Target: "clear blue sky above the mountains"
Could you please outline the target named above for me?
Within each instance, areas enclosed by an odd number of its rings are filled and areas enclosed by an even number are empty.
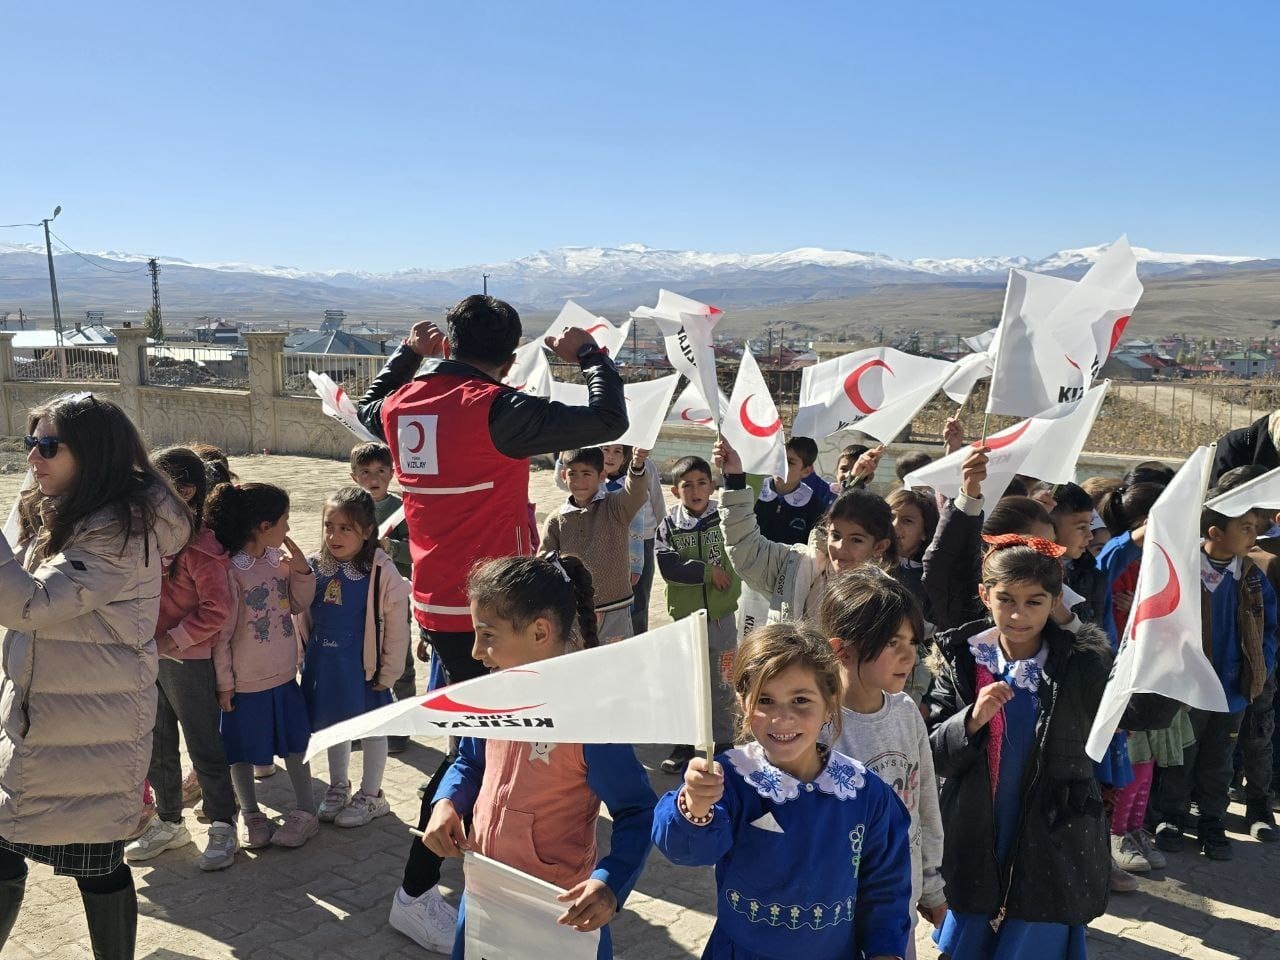
[[[81,250],[314,269],[1280,256],[1276,9],[8,4],[0,223],[61,204]]]

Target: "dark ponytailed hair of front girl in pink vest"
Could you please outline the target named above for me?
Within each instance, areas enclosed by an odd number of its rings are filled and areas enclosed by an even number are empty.
[[[516,630],[547,617],[563,643],[571,641],[575,623],[584,648],[600,643],[591,573],[577,557],[500,557],[477,563],[467,577],[467,596],[492,607]]]

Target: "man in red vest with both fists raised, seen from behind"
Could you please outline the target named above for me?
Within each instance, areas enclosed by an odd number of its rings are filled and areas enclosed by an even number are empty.
[[[529,458],[608,443],[627,429],[622,378],[581,329],[547,346],[577,362],[588,406],[529,397],[500,383],[520,343],[520,315],[500,300],[467,297],[449,311],[447,334],[415,324],[360,401],[360,420],[387,440],[404,497],[413,561],[413,614],[424,645],[451,684],[484,673],[472,659],[475,634],[466,579],[477,561],[532,553]],[[420,369],[421,367],[421,369]],[[425,646],[419,657],[426,659]],[[425,790],[419,829],[448,763]],[[440,860],[413,844],[392,925],[429,950],[449,952],[456,911],[435,884]]]

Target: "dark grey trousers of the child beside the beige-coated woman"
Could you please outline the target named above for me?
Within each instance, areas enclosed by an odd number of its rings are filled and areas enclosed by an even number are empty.
[[[212,660],[160,660],[156,678],[156,723],[151,739],[147,780],[156,792],[161,820],[182,819],[182,763],[178,756],[178,724],[187,740],[205,815],[211,820],[236,822],[236,792],[219,730],[218,681]]]

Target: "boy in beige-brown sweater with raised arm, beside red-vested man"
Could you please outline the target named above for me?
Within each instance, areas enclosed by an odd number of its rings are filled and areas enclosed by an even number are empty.
[[[541,553],[580,557],[595,588],[600,643],[631,636],[631,518],[649,495],[644,465],[649,452],[636,449],[621,490],[604,489],[604,453],[599,447],[567,451],[561,457],[568,500],[547,518]]]

